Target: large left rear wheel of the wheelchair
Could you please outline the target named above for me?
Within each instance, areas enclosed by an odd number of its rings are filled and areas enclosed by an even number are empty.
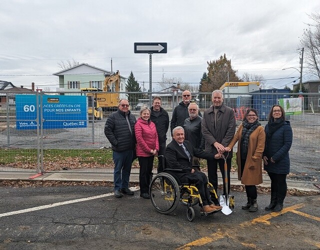
[[[150,184],[152,205],[160,213],[168,214],[176,208],[179,201],[179,185],[171,174],[156,174]]]

